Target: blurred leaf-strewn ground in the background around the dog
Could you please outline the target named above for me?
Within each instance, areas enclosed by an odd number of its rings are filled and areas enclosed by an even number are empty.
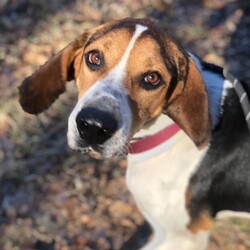
[[[185,48],[250,79],[248,0],[0,0],[1,250],[135,250],[150,238],[125,185],[126,159],[93,160],[67,146],[74,83],[38,116],[17,98],[53,53],[123,17],[153,19]],[[217,221],[209,250],[218,249],[250,249],[250,221]]]

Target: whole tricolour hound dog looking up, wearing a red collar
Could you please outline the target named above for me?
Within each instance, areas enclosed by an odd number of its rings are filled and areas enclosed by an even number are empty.
[[[128,153],[127,185],[154,231],[142,249],[206,249],[219,212],[250,212],[249,117],[221,67],[149,20],[116,20],[26,78],[20,104],[38,114],[73,79],[68,144],[103,158]]]

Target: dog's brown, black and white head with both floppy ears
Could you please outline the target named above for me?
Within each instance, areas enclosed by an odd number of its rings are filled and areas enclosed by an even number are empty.
[[[73,149],[123,152],[135,132],[164,113],[198,147],[210,137],[208,97],[192,58],[150,21],[113,21],[77,37],[20,86],[25,111],[45,110],[75,79],[68,123]]]

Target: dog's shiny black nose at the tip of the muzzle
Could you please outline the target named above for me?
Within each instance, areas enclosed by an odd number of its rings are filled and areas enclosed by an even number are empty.
[[[82,109],[76,117],[76,124],[81,138],[88,146],[104,143],[118,128],[118,122],[110,112],[94,107]]]

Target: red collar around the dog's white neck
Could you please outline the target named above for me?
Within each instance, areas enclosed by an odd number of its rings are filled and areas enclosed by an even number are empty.
[[[154,135],[132,141],[129,144],[129,154],[139,154],[148,151],[173,137],[180,127],[173,123]]]

